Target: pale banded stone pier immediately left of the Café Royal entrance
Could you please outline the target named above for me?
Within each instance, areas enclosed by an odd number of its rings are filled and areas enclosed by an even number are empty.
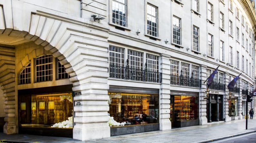
[[[200,76],[202,77],[202,86],[200,89],[200,93],[199,93],[199,102],[200,102],[200,106],[199,106],[199,124],[200,125],[205,125],[207,124],[207,118],[206,118],[206,99],[204,99],[206,97],[206,82],[204,83],[204,81],[207,79],[206,77],[206,65],[200,65]]]

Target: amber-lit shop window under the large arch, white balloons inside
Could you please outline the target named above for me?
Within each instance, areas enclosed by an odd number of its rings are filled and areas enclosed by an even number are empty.
[[[19,96],[19,125],[35,128],[73,128],[72,93]]]

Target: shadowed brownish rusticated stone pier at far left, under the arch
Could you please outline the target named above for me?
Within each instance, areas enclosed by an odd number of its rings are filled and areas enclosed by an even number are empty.
[[[4,133],[17,133],[15,101],[15,49],[0,47],[0,85],[5,97]]]

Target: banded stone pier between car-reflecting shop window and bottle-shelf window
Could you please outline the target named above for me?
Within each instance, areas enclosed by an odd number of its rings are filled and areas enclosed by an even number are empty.
[[[172,128],[170,121],[170,56],[161,54],[160,71],[162,72],[162,84],[160,89],[160,130]]]

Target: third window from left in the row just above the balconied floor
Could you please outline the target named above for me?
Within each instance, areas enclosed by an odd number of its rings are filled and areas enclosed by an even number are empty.
[[[181,45],[181,23],[180,19],[173,17],[173,43]]]

